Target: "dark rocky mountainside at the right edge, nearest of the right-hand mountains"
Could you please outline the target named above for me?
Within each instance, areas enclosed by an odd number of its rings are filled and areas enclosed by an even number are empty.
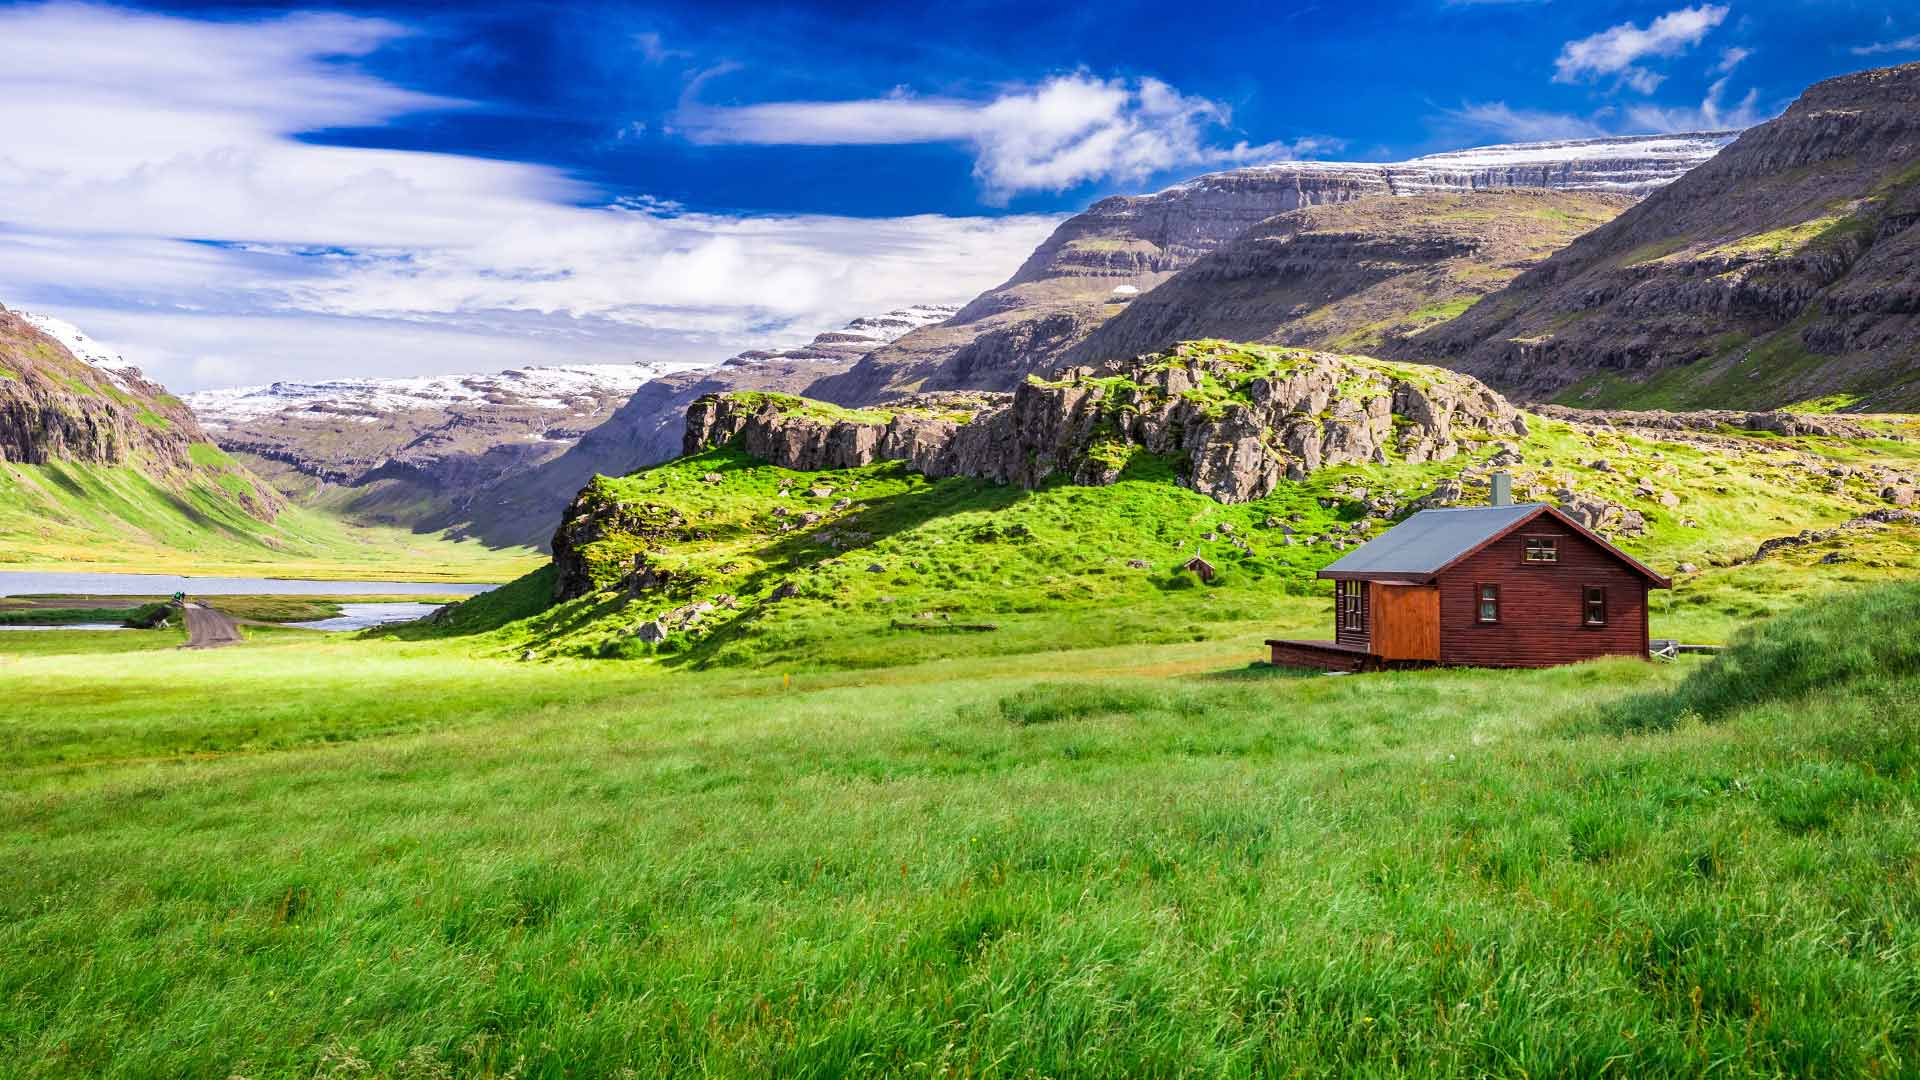
[[[1920,65],[1830,79],[1427,334],[1569,404],[1920,404]]]

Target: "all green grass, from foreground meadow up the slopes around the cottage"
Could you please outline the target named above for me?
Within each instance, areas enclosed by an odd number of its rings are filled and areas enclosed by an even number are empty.
[[[1920,1074],[1920,528],[1749,561],[1889,505],[1920,429],[1872,423],[1542,421],[1240,505],[1150,455],[1027,492],[722,448],[597,480],[564,603],[549,565],[355,636],[0,634],[0,1076]],[[1653,634],[1732,650],[1260,663],[1327,634],[1369,500],[1501,450],[1644,513],[1695,565]],[[113,492],[188,561],[534,565]],[[109,557],[0,505],[4,552]]]

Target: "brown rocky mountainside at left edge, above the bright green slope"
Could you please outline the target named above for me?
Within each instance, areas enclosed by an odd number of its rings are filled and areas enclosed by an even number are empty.
[[[102,371],[0,307],[0,461],[131,467],[163,486],[192,479],[217,486],[194,461],[194,444],[211,450],[194,413],[165,388],[131,369]],[[250,490],[236,502],[261,521],[284,505],[263,484],[234,484],[242,486]]]

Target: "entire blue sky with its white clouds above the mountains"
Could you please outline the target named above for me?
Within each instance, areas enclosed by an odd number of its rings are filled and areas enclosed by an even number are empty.
[[[1210,169],[1743,127],[1920,60],[1920,12],[0,4],[0,302],[200,388],[716,361]]]

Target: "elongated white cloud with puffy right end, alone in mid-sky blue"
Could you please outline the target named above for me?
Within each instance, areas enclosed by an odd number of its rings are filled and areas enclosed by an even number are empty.
[[[689,94],[680,131],[705,144],[889,146],[958,142],[973,148],[987,198],[1060,192],[1091,181],[1144,181],[1167,169],[1290,160],[1331,140],[1213,146],[1231,121],[1219,102],[1181,94],[1160,79],[1058,75],[993,100],[920,98],[895,90],[852,102],[705,106]]]

